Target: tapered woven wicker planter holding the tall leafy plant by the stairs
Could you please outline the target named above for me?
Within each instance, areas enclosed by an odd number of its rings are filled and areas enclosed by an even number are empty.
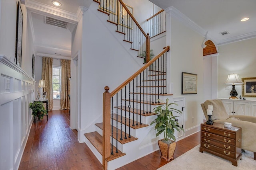
[[[163,142],[164,139],[161,139],[158,141],[158,146],[161,151],[161,156],[160,158],[164,158],[166,161],[170,161],[171,159],[174,159],[173,154],[176,149],[176,142],[172,141],[172,143],[167,144]]]

